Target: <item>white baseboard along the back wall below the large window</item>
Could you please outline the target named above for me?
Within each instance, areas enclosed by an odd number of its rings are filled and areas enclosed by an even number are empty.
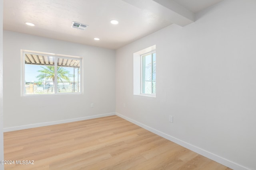
[[[100,115],[78,117],[78,118],[74,118],[74,119],[66,119],[66,120],[50,121],[50,122],[44,122],[44,123],[35,123],[35,124],[30,124],[30,125],[7,127],[7,128],[4,128],[4,132],[18,131],[18,130],[22,130],[22,129],[30,129],[30,128],[34,128],[34,127],[42,127],[42,126],[49,126],[49,125],[57,125],[57,124],[61,124],[61,123],[69,123],[69,122],[74,122],[74,121],[94,119],[94,118],[98,118],[98,117],[106,117],[106,116],[111,116],[111,115],[116,115],[116,113],[105,113],[105,114],[100,114]]]

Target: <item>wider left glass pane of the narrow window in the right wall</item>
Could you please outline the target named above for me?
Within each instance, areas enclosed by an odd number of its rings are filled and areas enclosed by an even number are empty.
[[[152,57],[151,54],[142,56],[142,93],[152,92]]]

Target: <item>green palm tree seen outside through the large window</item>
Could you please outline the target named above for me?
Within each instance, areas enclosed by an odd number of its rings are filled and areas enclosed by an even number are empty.
[[[40,72],[41,74],[36,76],[36,78],[38,78],[38,80],[52,80],[54,84],[54,66],[46,66],[42,68],[42,70],[38,70],[38,72]],[[67,80],[68,82],[70,81],[69,77],[66,76],[68,73],[69,71],[65,70],[63,67],[57,67],[57,78],[61,82],[63,82],[63,80]]]

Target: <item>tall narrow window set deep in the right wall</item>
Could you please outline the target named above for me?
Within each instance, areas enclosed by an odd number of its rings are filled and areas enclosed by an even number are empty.
[[[142,94],[156,94],[156,53],[150,52],[141,56]]]

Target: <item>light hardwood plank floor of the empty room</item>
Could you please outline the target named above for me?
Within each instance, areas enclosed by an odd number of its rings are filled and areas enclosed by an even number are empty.
[[[5,170],[230,170],[118,116],[6,132],[4,158]]]

